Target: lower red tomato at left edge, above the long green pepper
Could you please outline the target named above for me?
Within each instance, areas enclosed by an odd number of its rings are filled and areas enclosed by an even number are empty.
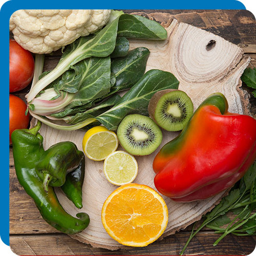
[[[27,105],[17,96],[9,95],[9,123],[10,123],[10,144],[12,143],[11,134],[16,129],[25,129],[29,124],[29,114],[25,115]]]

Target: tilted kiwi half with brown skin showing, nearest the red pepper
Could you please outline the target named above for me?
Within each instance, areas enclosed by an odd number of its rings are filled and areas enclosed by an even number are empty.
[[[150,117],[164,130],[172,132],[182,130],[193,112],[193,102],[180,90],[158,91],[148,105]]]

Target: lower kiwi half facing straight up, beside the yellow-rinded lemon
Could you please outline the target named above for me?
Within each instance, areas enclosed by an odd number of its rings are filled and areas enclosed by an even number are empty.
[[[119,124],[117,137],[121,146],[131,155],[145,156],[161,144],[161,129],[148,116],[132,114]]]

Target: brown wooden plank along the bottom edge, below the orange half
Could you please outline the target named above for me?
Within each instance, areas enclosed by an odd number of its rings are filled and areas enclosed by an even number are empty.
[[[18,255],[179,255],[189,237],[179,232],[147,247],[126,247],[118,251],[94,248],[65,234],[10,236],[10,247]],[[219,236],[201,232],[190,242],[186,255],[249,255],[255,248],[255,237],[225,237],[218,246],[212,244]],[[230,246],[231,245],[231,246]]]

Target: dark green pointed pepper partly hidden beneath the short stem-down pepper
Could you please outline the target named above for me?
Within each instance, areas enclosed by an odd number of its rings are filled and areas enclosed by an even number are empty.
[[[83,207],[82,204],[82,187],[85,174],[85,159],[80,162],[77,169],[66,176],[66,182],[61,187],[69,200],[71,200],[78,209]]]

